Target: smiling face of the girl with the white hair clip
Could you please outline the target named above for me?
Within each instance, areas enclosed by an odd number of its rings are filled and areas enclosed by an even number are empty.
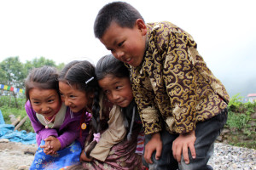
[[[69,106],[73,112],[83,110],[90,103],[85,92],[68,85],[66,82],[59,82],[59,89],[62,102],[65,102],[65,105]]]

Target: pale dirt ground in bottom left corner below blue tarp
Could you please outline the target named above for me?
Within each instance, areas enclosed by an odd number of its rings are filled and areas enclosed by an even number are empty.
[[[0,170],[26,170],[29,169],[36,144],[21,144],[16,142],[0,143]]]

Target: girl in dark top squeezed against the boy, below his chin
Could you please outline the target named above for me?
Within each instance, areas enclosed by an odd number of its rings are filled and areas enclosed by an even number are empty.
[[[96,65],[96,77],[104,94],[110,102],[119,105],[127,121],[127,139],[133,134],[137,137],[136,153],[143,155],[143,126],[133,99],[129,71],[125,65],[112,54],[100,59]]]

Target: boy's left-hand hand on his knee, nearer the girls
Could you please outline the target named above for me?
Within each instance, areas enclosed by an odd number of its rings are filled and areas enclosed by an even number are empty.
[[[152,138],[148,141],[148,144],[145,145],[144,158],[147,163],[153,163],[151,156],[154,150],[156,150],[155,159],[159,160],[162,152],[162,140],[160,133],[152,134]]]

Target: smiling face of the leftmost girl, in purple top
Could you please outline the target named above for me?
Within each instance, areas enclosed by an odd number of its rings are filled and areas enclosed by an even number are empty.
[[[61,100],[55,89],[32,88],[29,90],[32,108],[44,117],[51,117],[61,107]]]

